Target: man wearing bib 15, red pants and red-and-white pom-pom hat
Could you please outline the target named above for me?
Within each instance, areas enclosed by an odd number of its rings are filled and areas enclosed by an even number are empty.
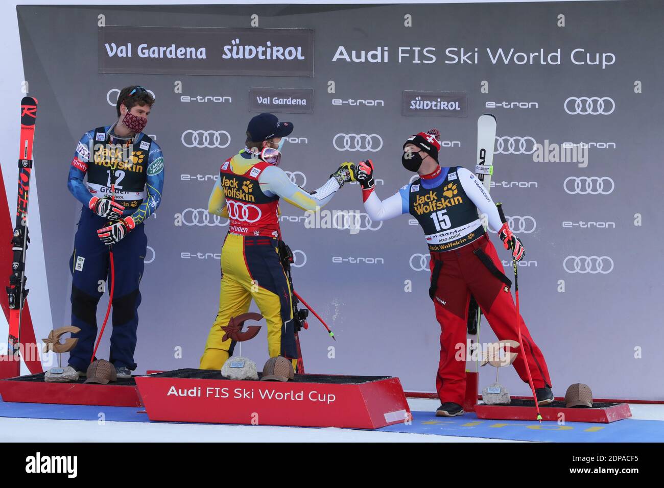
[[[500,341],[518,342],[517,311],[510,293],[511,282],[503,274],[502,264],[489,240],[480,214],[488,218],[489,228],[499,233],[513,257],[525,255],[523,244],[502,224],[498,210],[481,182],[460,166],[442,167],[438,163],[440,132],[431,129],[409,137],[403,145],[402,164],[420,175],[384,201],[374,191],[374,167],[371,159],[357,165],[357,180],[371,220],[387,220],[411,214],[424,230],[431,254],[429,295],[434,301],[440,323],[440,363],[436,390],[441,406],[436,416],[463,414],[465,393],[465,357],[456,359],[457,349],[465,351],[467,314],[471,295],[475,297],[491,329]],[[521,335],[540,405],[553,401],[551,380],[544,356],[533,341],[523,318]],[[517,349],[518,351],[518,349]],[[513,363],[519,376],[528,382],[524,355]]]

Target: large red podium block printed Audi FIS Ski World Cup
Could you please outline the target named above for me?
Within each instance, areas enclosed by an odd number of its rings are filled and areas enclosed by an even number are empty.
[[[392,376],[238,381],[188,368],[135,380],[150,420],[377,429],[410,418],[404,390]]]

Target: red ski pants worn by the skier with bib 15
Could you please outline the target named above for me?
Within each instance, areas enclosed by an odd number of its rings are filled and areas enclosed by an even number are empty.
[[[467,315],[471,294],[499,341],[511,339],[519,342],[517,310],[510,288],[505,284],[509,280],[503,274],[503,264],[487,236],[457,250],[433,252],[430,267],[436,319],[442,331],[436,390],[441,403],[461,405],[465,393]],[[523,348],[526,353],[535,388],[550,387],[551,380],[542,351],[533,341],[521,316],[519,320],[523,344],[515,352]],[[457,354],[459,347],[463,355]],[[528,382],[523,353],[517,355],[513,365],[521,379]]]

